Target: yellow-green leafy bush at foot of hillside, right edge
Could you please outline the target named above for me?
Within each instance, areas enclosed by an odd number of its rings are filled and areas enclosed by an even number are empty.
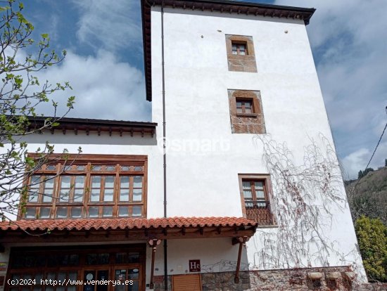
[[[361,216],[355,221],[360,253],[369,280],[387,282],[387,228],[380,219]]]

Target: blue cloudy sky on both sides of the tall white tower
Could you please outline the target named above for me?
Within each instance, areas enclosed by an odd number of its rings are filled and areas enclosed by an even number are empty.
[[[387,122],[387,1],[250,1],[317,8],[307,33],[338,158],[345,177],[357,177]],[[151,121],[139,0],[25,0],[24,13],[35,38],[49,33],[53,48],[68,51],[39,75],[70,82],[77,99],[68,117]],[[370,167],[386,158],[387,134]]]

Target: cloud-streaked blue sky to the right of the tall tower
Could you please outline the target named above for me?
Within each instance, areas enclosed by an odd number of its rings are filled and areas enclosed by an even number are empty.
[[[387,122],[387,1],[278,0],[276,4],[317,8],[307,31],[336,150],[353,178],[367,165]],[[384,143],[372,167],[381,166],[386,157]]]

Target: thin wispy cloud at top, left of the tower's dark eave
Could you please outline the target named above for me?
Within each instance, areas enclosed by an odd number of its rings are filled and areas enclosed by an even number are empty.
[[[120,48],[130,51],[137,47],[131,44],[141,41],[139,1],[74,0],[72,4],[81,13],[77,22],[77,37],[81,43],[108,51]],[[141,50],[142,46],[136,49]]]

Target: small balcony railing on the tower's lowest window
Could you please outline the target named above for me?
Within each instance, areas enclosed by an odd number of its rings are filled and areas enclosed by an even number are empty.
[[[275,224],[269,201],[246,201],[246,218],[258,222],[258,226]]]

